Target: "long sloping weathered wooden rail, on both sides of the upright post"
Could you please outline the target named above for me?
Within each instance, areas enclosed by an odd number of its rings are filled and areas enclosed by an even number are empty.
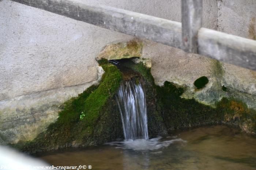
[[[89,24],[182,48],[181,23],[79,0],[13,0]],[[256,70],[256,41],[200,28],[198,54]]]

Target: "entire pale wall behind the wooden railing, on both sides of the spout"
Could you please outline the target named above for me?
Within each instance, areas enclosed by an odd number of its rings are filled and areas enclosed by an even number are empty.
[[[85,1],[181,21],[180,0]],[[204,27],[255,37],[254,0],[203,3]],[[1,0],[0,8],[0,143],[30,140],[44,131],[65,100],[98,82],[100,51],[134,38],[10,0]],[[256,107],[254,71],[148,40],[143,40],[141,56],[152,60],[156,84],[167,80],[187,86],[183,97],[214,106],[222,96],[235,95]],[[209,83],[196,91],[193,82],[200,76]],[[222,85],[229,91],[221,91]]]

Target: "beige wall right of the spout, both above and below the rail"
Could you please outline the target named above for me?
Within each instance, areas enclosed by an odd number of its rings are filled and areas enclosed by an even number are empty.
[[[210,7],[204,7],[204,12],[209,12],[211,15],[214,13],[214,16],[217,12],[218,20],[214,22],[213,18],[208,17],[212,25],[204,23],[204,27],[255,39],[255,1],[221,0],[215,3],[211,1]],[[217,11],[215,7],[218,8]],[[195,98],[207,105],[215,106],[215,102],[226,96],[240,99],[249,107],[256,109],[255,71],[217,62],[204,56],[187,54],[182,50],[151,41],[146,41],[144,44],[142,57],[151,56],[151,72],[156,84],[161,86],[167,80],[187,86],[187,91],[183,94],[184,98]],[[196,90],[193,83],[201,76],[207,76],[209,83],[206,88]],[[226,92],[222,90],[222,86],[227,87]]]

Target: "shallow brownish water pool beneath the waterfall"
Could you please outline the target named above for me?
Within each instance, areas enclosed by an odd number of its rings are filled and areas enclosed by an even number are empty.
[[[37,156],[54,166],[92,169],[253,170],[256,137],[226,126],[200,127],[146,141],[110,142]]]

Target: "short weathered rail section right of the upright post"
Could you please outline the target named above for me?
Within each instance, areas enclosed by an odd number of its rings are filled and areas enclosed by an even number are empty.
[[[198,32],[198,54],[256,70],[255,40],[200,28]]]

